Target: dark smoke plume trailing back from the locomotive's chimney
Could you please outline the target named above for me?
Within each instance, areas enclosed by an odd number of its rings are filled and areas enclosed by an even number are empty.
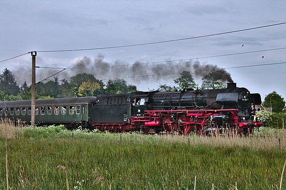
[[[44,62],[42,62],[44,65]],[[45,65],[44,65],[45,66]],[[49,65],[50,66],[50,65]],[[56,66],[55,66],[56,67]],[[62,67],[62,66],[61,66]],[[124,61],[117,60],[114,63],[108,62],[104,59],[103,55],[98,55],[96,58],[83,57],[76,61],[67,70],[60,72],[55,75],[59,80],[66,79],[69,80],[73,75],[78,73],[91,73],[99,80],[104,82],[109,79],[125,79],[129,81],[130,84],[142,84],[148,82],[158,82],[167,83],[168,81],[173,81],[180,77],[180,73],[183,71],[190,71],[195,79],[202,79],[210,72],[219,72],[218,80],[223,82],[233,82],[230,73],[225,69],[219,68],[217,65],[211,64],[201,64],[199,61],[164,61],[164,62],[150,62],[143,63],[140,61],[135,61],[134,63],[128,63]],[[12,70],[13,73],[23,72],[22,68]],[[29,71],[28,71],[29,72]],[[38,70],[36,73],[43,73],[37,75],[37,81],[41,81],[49,75],[57,72],[57,70]],[[54,80],[54,77],[50,80]],[[24,80],[17,79],[18,84],[22,84],[24,81],[29,84],[30,78]],[[45,83],[45,81],[44,81]]]

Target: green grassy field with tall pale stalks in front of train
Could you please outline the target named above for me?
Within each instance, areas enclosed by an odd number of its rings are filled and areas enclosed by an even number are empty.
[[[9,130],[10,189],[279,189],[286,159],[285,131],[267,128],[246,138]],[[3,136],[0,147],[5,189]]]

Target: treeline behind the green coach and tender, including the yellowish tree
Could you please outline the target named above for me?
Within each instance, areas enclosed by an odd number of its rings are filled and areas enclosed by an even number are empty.
[[[109,80],[105,85],[93,74],[87,73],[76,74],[69,81],[66,79],[58,80],[55,77],[53,81],[37,83],[36,99],[96,96],[137,91],[135,85],[129,85],[123,79]],[[31,87],[26,82],[18,86],[14,74],[5,68],[0,74],[0,100],[27,100],[30,98]]]

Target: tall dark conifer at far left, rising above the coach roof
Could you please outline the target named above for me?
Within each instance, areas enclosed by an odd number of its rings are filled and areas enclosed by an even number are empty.
[[[20,93],[20,88],[15,81],[14,74],[7,68],[0,74],[0,91],[8,95],[17,95]]]

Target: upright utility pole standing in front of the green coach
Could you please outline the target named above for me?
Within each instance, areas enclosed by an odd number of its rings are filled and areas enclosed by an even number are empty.
[[[32,56],[32,82],[31,82],[31,126],[36,124],[36,56],[37,52],[31,52]]]

